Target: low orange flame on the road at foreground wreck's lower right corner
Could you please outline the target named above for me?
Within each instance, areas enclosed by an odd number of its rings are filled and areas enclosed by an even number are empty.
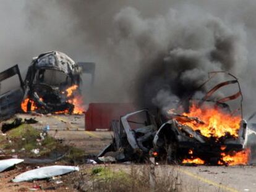
[[[221,153],[222,161],[228,165],[246,165],[249,162],[250,149],[245,149],[244,151],[236,152],[234,155],[228,155],[224,152]],[[223,165],[223,162],[218,162],[219,165]]]

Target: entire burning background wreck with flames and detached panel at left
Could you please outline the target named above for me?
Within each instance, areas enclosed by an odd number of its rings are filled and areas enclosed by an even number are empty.
[[[18,65],[0,73],[0,82],[17,75],[20,88],[1,93],[0,118],[8,119],[16,112],[39,112],[41,114],[80,114],[80,75],[90,73],[92,82],[95,64],[74,62],[59,51],[46,52],[33,58],[25,80]]]

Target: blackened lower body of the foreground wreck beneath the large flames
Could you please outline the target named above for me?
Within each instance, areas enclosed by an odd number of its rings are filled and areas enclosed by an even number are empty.
[[[215,138],[207,138],[176,120],[164,123],[153,140],[154,151],[158,160],[168,163],[181,163],[182,159],[199,157],[208,164],[221,161],[222,152],[242,151],[246,140],[247,123],[242,120],[237,138],[223,136],[216,142]],[[189,154],[192,150],[193,153]]]

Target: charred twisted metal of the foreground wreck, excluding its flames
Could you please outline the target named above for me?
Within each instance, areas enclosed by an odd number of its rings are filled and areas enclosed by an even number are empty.
[[[197,107],[203,105],[211,106],[212,109],[218,109],[231,116],[239,113],[241,121],[236,135],[226,133],[223,136],[204,136],[200,130],[193,130],[190,126],[181,122],[196,122],[198,125],[204,122],[198,117],[189,117],[184,114],[150,114],[147,109],[132,112],[122,116],[119,120],[113,120],[112,130],[114,133],[113,143],[109,144],[98,157],[106,152],[114,151],[117,161],[145,161],[150,156],[156,157],[158,161],[168,163],[180,163],[182,159],[199,157],[207,164],[218,164],[221,161],[221,153],[227,154],[233,151],[242,151],[245,149],[247,141],[247,122],[242,117],[242,93],[239,82],[236,77],[226,72],[213,73],[209,80],[218,73],[225,73],[232,80],[224,81],[210,91],[206,91],[202,99],[194,99],[188,96],[186,101],[180,101],[178,106],[187,104],[183,107],[190,109],[192,104]],[[208,83],[207,80],[203,85]],[[220,88],[228,85],[238,85],[238,92],[224,98],[211,99],[211,96]],[[235,110],[226,103],[239,99],[239,106]],[[141,115],[146,113],[144,117]],[[137,116],[140,116],[137,117]],[[132,120],[130,117],[140,120]],[[239,117],[240,119],[240,117]],[[156,122],[164,122],[160,126]],[[134,124],[135,123],[135,124]],[[136,127],[136,128],[134,128]],[[192,151],[192,152],[190,152]],[[224,164],[224,162],[223,162]]]

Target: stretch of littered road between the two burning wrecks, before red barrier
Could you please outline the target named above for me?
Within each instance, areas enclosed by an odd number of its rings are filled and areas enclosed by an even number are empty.
[[[28,114],[17,116],[23,119],[35,117]],[[49,135],[63,140],[64,144],[85,150],[88,155],[98,154],[100,149],[111,142],[110,131],[85,131],[84,115],[44,115],[36,116],[36,120],[38,123],[33,124],[33,127],[40,130],[49,125]]]

